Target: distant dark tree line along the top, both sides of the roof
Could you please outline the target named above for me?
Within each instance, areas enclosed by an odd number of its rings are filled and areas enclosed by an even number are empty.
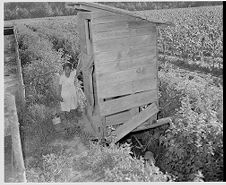
[[[222,5],[221,1],[101,3],[131,11]],[[4,4],[4,20],[75,15],[76,13],[76,10],[65,8],[65,2],[8,2]]]

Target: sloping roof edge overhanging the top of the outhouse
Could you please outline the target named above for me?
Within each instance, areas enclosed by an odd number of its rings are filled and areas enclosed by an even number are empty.
[[[91,8],[96,8],[96,9],[101,9],[101,10],[105,10],[105,11],[109,11],[109,12],[113,12],[113,13],[118,13],[118,14],[122,14],[122,15],[129,15],[138,19],[142,19],[142,20],[146,20],[148,22],[154,23],[154,24],[158,24],[158,25],[168,25],[168,26],[173,26],[173,23],[171,22],[161,22],[161,21],[153,21],[151,19],[148,19],[145,16],[139,15],[135,12],[130,12],[124,9],[120,9],[120,8],[116,8],[116,7],[111,7],[111,6],[107,6],[107,5],[103,5],[103,4],[98,4],[98,3],[87,3],[87,2],[76,2],[76,3],[67,3],[66,6],[78,6],[78,5],[82,5],[82,6],[87,6],[87,7],[91,7]],[[79,9],[77,7],[77,9]]]

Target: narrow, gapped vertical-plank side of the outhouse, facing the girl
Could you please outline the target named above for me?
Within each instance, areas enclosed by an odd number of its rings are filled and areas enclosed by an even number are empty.
[[[80,44],[86,45],[86,51],[82,51],[82,71],[83,71],[83,83],[85,95],[88,99],[87,106],[87,118],[90,121],[90,124],[97,137],[103,137],[103,125],[105,124],[105,117],[100,116],[99,107],[98,107],[98,97],[96,91],[96,73],[94,66],[94,54],[93,54],[93,42],[92,42],[92,25],[90,22],[89,14],[80,14],[80,26],[83,26],[84,29],[81,29],[80,35],[83,35],[85,42],[80,42]],[[101,132],[99,132],[101,128]]]

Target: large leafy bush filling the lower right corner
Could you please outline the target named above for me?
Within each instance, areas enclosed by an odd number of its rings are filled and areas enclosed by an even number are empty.
[[[177,175],[179,180],[188,180],[188,175],[198,170],[203,172],[206,181],[222,179],[222,124],[216,118],[208,123],[207,115],[193,111],[185,100],[178,116],[161,140],[167,147],[164,169]]]

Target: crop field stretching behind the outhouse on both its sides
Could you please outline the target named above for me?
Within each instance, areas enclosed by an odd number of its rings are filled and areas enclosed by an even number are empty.
[[[153,20],[170,21],[175,24],[174,27],[159,28],[158,49],[161,58],[171,57],[177,65],[200,69],[217,76],[222,74],[222,6],[148,10],[138,13]],[[24,23],[50,37],[51,34],[57,34],[62,38],[73,38],[74,43],[77,37],[76,21],[76,16],[67,16],[16,22]],[[63,34],[65,32],[67,35]]]

